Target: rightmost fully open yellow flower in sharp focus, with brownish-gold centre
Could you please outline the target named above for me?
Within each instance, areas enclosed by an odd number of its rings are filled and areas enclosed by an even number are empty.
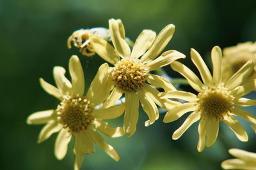
[[[256,88],[256,80],[246,81],[253,70],[252,61],[246,62],[227,83],[223,83],[221,81],[222,55],[220,47],[214,46],[212,48],[211,59],[213,65],[212,76],[200,54],[196,50],[191,49],[191,60],[200,72],[204,83],[202,83],[195,73],[180,62],[175,61],[171,64],[172,69],[182,74],[188,80],[191,87],[198,92],[197,96],[190,92],[179,90],[163,92],[159,95],[161,98],[177,98],[188,101],[188,103],[180,104],[168,110],[164,116],[164,122],[173,122],[185,113],[193,111],[179,129],[173,133],[172,138],[179,139],[193,123],[200,120],[197,145],[199,152],[204,150],[205,145],[206,147],[210,147],[215,143],[218,136],[219,124],[222,120],[234,131],[237,138],[241,141],[248,141],[248,136],[234,115],[244,118],[252,124],[256,123],[255,116],[235,107],[256,105],[256,100],[242,97]],[[207,138],[206,143],[205,136]]]

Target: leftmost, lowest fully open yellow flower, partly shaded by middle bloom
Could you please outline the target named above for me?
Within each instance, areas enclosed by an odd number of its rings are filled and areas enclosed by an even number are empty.
[[[54,67],[54,80],[57,88],[40,78],[42,88],[61,101],[56,110],[39,111],[30,115],[28,124],[46,124],[39,134],[38,143],[45,141],[54,132],[59,132],[55,143],[55,156],[61,160],[67,153],[68,143],[75,137],[74,153],[76,155],[74,169],[79,169],[83,155],[94,152],[93,142],[102,148],[116,161],[119,155],[106,143],[100,132],[109,137],[124,134],[122,127],[111,127],[102,119],[116,118],[124,112],[124,104],[109,108],[95,109],[109,96],[111,86],[108,81],[108,64],[102,64],[93,79],[86,96],[84,94],[84,74],[76,55],[69,61],[72,83],[65,77],[63,67]]]

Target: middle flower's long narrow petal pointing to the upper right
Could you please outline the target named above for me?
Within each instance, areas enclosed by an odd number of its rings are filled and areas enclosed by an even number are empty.
[[[169,24],[166,27],[164,27],[164,29],[157,35],[155,41],[152,43],[152,46],[150,46],[148,52],[141,57],[141,62],[154,60],[172,39],[174,31],[175,26],[173,24]]]

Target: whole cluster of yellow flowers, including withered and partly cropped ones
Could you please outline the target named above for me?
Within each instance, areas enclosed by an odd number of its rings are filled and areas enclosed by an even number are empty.
[[[165,123],[191,112],[172,138],[179,139],[192,124],[200,121],[198,152],[215,143],[222,120],[240,141],[248,141],[248,135],[236,117],[247,120],[256,129],[256,117],[241,110],[241,107],[256,105],[256,100],[243,97],[256,89],[256,65],[253,67],[256,43],[227,48],[223,50],[224,57],[221,48],[214,46],[211,51],[212,74],[200,54],[191,48],[191,60],[200,73],[201,81],[191,69],[177,61],[186,57],[183,53],[176,50],[161,53],[174,31],[173,24],[164,27],[158,35],[145,29],[134,45],[125,38],[124,25],[119,19],[109,20],[109,29],[96,27],[75,31],[68,38],[68,48],[73,42],[83,55],[89,57],[97,53],[111,66],[104,63],[99,67],[86,94],[83,67],[76,55],[69,60],[71,81],[65,77],[63,67],[53,69],[56,87],[40,78],[42,88],[59,99],[60,104],[53,110],[38,111],[28,117],[28,124],[45,124],[38,143],[59,132],[54,153],[61,160],[74,136],[74,169],[80,169],[85,154],[94,152],[93,143],[118,161],[118,153],[98,131],[111,138],[132,136],[136,131],[140,104],[148,115],[146,127],[159,118],[157,106],[167,111],[163,120]],[[163,76],[150,73],[168,65],[182,74],[198,94],[177,90]],[[164,92],[159,92],[159,88]],[[116,104],[122,97],[125,100]],[[123,127],[111,127],[104,122],[104,119],[120,117],[123,113]],[[237,149],[231,149],[230,153],[239,159],[224,161],[221,164],[224,169],[256,169],[256,153]]]

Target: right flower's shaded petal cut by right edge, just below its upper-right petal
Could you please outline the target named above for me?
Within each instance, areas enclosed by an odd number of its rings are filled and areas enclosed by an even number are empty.
[[[246,81],[231,92],[231,95],[241,97],[256,89],[256,80]]]

